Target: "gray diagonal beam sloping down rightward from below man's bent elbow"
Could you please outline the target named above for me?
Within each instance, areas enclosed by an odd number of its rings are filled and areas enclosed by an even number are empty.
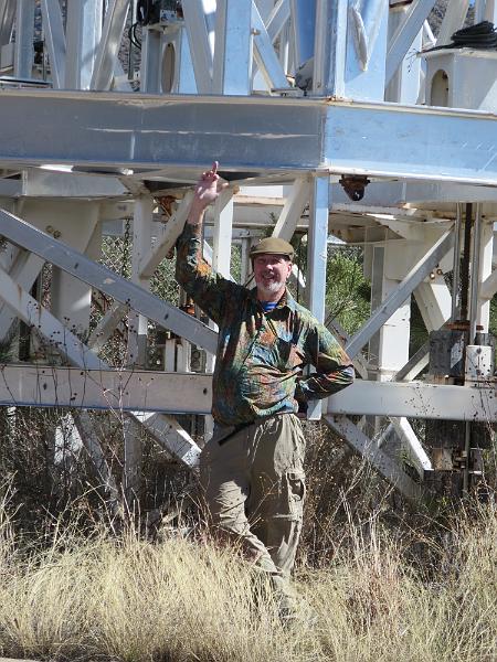
[[[404,496],[412,500],[417,500],[422,496],[421,487],[346,416],[325,416],[324,419],[330,428],[343,437],[345,441],[353,450],[360,452]]]

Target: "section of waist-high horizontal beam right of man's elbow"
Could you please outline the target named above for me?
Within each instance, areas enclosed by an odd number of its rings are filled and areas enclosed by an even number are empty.
[[[367,382],[328,398],[328,414],[405,416],[438,420],[497,420],[495,384],[453,386],[424,382]]]

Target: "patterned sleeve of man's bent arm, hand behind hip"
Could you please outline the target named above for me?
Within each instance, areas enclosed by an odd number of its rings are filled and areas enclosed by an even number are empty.
[[[297,401],[321,399],[352,384],[355,370],[351,360],[337,339],[317,320],[307,335],[305,352],[307,362],[315,366],[316,372],[298,380]]]

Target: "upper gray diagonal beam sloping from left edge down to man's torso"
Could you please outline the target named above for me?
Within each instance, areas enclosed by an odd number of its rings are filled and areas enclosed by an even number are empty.
[[[27,248],[67,274],[92,285],[120,303],[170,329],[190,342],[215,352],[216,333],[171,303],[147,292],[138,285],[94,263],[74,248],[57,242],[13,214],[0,210],[1,234],[12,244]]]

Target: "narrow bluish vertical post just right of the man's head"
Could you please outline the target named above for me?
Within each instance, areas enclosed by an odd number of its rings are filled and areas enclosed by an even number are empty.
[[[326,265],[328,260],[328,216],[329,174],[319,173],[314,178],[309,210],[309,232],[307,241],[307,303],[310,312],[325,321]],[[321,417],[321,402],[308,403],[307,418]]]

